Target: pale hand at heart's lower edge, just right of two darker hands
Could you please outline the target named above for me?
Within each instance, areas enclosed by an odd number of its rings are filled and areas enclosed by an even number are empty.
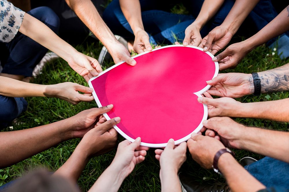
[[[114,167],[114,170],[118,170],[123,178],[126,178],[134,170],[136,164],[144,161],[144,156],[147,155],[149,148],[140,146],[140,141],[141,139],[138,137],[134,142],[124,140],[118,144],[110,166]]]

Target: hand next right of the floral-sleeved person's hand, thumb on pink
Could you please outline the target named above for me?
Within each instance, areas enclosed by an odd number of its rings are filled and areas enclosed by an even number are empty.
[[[108,52],[110,52],[114,63],[119,63],[121,61],[125,61],[129,65],[136,65],[136,60],[131,58],[131,55],[129,54],[129,51],[116,40],[116,43],[111,44],[111,46],[107,47]]]

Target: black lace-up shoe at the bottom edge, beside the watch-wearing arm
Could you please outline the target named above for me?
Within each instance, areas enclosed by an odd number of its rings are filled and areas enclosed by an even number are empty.
[[[182,192],[229,192],[227,184],[223,185],[200,185],[192,180],[192,177],[179,173]]]

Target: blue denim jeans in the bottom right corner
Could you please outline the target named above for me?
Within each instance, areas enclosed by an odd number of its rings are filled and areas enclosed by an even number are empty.
[[[264,157],[244,167],[267,188],[289,191],[289,164],[271,157]]]

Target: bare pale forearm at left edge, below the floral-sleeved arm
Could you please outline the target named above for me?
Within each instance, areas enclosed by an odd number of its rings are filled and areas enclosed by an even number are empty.
[[[0,76],[0,95],[8,97],[44,97],[47,85],[26,83]]]

